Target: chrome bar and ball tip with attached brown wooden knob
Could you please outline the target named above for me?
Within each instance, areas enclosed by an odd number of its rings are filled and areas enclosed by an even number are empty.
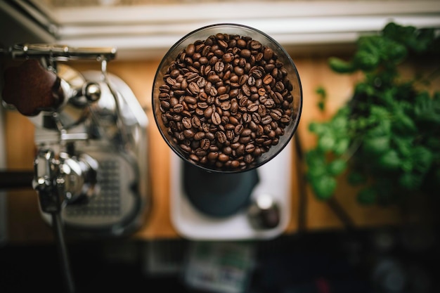
[[[5,70],[3,99],[14,105],[22,115],[36,116],[41,111],[56,111],[63,103],[72,98],[70,90],[63,86],[57,76],[56,61],[95,59],[112,60],[116,48],[72,48],[56,44],[16,44],[7,53],[13,59],[25,60],[18,67]],[[6,51],[0,51],[6,55]],[[87,100],[98,100],[100,93],[93,84],[80,90],[85,91]],[[98,89],[99,91],[99,89]],[[75,94],[74,94],[75,95]],[[73,97],[77,98],[77,97]],[[75,101],[74,101],[75,102]],[[78,102],[78,101],[77,101]]]

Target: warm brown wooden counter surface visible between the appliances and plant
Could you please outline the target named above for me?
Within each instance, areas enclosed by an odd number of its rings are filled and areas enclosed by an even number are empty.
[[[143,227],[135,233],[138,239],[157,239],[179,237],[172,226],[169,203],[169,148],[157,130],[151,112],[151,87],[159,61],[150,62],[113,62],[108,70],[123,79],[134,91],[135,96],[148,115],[149,172],[152,179],[152,207],[145,215]],[[317,86],[329,89],[332,97],[348,98],[356,77],[340,76],[330,72],[326,58],[298,58],[295,60],[302,79],[304,104],[298,136],[301,149],[306,150],[314,143],[307,131],[313,119],[325,119],[334,111],[344,98],[332,99],[328,112],[316,110],[318,97]],[[74,65],[72,65],[74,67]],[[75,63],[75,68],[82,70],[99,70],[99,66],[90,63]],[[34,160],[34,126],[17,112],[6,112],[6,150],[7,164],[10,170],[32,170]],[[292,159],[292,219],[285,233],[297,233],[299,228],[306,230],[339,229],[343,227],[341,219],[325,202],[316,200],[302,173],[297,172],[301,162],[294,156]],[[304,197],[300,197],[303,193]],[[400,211],[392,208],[363,207],[356,202],[354,190],[342,185],[335,197],[340,207],[347,212],[357,227],[387,226],[401,223]],[[299,205],[303,204],[302,207]],[[299,212],[304,214],[304,222],[299,223]],[[51,229],[44,223],[39,214],[37,194],[34,190],[12,190],[8,192],[8,236],[10,242],[34,243],[53,239]]]

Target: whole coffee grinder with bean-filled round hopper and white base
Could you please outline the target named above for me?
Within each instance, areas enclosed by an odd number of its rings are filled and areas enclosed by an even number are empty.
[[[283,231],[302,87],[277,41],[228,23],[190,32],[157,69],[153,111],[172,150],[172,220],[181,235],[225,240]]]

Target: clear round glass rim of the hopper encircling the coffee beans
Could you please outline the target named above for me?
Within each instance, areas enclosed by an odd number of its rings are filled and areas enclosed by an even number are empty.
[[[157,77],[162,73],[160,72],[160,70],[163,70],[164,68],[164,63],[167,62],[167,60],[169,59],[169,53],[171,53],[172,51],[174,51],[177,47],[181,46],[181,44],[183,44],[184,41],[186,41],[186,39],[188,39],[190,36],[197,34],[200,31],[203,30],[208,30],[208,29],[212,29],[212,28],[217,28],[219,27],[220,29],[222,27],[230,27],[232,29],[245,29],[245,30],[250,30],[252,32],[256,32],[257,34],[261,34],[262,36],[264,36],[266,39],[268,39],[269,41],[271,41],[272,44],[276,45],[277,48],[282,51],[283,55],[285,58],[287,58],[288,62],[290,63],[290,66],[292,66],[292,69],[295,73],[296,79],[297,79],[297,86],[298,86],[298,93],[299,93],[299,100],[297,101],[298,104],[298,108],[297,108],[297,115],[295,115],[295,120],[292,121],[292,123],[294,123],[292,131],[290,132],[290,134],[288,134],[288,137],[285,141],[285,143],[283,143],[283,145],[273,145],[272,147],[276,147],[276,152],[274,152],[271,157],[268,157],[267,159],[261,160],[259,162],[255,162],[254,164],[252,164],[251,167],[247,167],[245,169],[214,169],[214,168],[209,168],[206,167],[202,164],[196,164],[195,162],[190,162],[188,160],[187,157],[185,157],[184,155],[181,154],[181,152],[179,152],[179,150],[176,150],[176,146],[173,145],[168,139],[167,136],[165,136],[165,134],[162,131],[162,128],[160,127],[160,121],[158,119],[160,119],[160,117],[157,117],[156,113],[155,113],[155,107],[156,107],[156,103],[155,103],[155,89],[156,89],[156,82],[157,82]],[[221,32],[221,31],[219,31]],[[176,56],[174,56],[175,58]],[[303,93],[302,93],[302,84],[301,84],[301,79],[299,77],[299,72],[297,70],[297,66],[295,65],[295,63],[293,62],[291,56],[289,53],[287,53],[287,51],[285,51],[285,48],[283,48],[283,46],[281,46],[278,41],[276,41],[275,39],[273,39],[271,36],[269,36],[268,34],[266,34],[265,32],[262,32],[259,29],[256,29],[254,27],[250,27],[248,25],[242,25],[242,24],[237,24],[237,23],[231,23],[231,22],[220,22],[220,23],[215,23],[212,25],[206,25],[204,27],[200,27],[196,30],[193,30],[191,32],[188,32],[188,34],[184,35],[183,37],[181,37],[181,39],[179,39],[179,41],[176,41],[176,43],[174,43],[174,45],[169,48],[169,50],[167,51],[167,53],[164,54],[164,57],[162,58],[162,60],[159,63],[159,66],[157,67],[157,70],[155,72],[155,77],[153,79],[153,90],[152,90],[152,96],[151,96],[151,102],[152,102],[152,110],[153,110],[153,117],[155,119],[155,124],[157,126],[157,128],[159,129],[160,135],[162,136],[162,138],[164,139],[165,143],[167,143],[167,145],[169,146],[169,148],[171,148],[173,150],[173,152],[178,155],[181,159],[183,159],[184,162],[188,162],[188,164],[193,164],[196,167],[199,167],[201,169],[204,169],[205,171],[208,172],[213,172],[213,173],[221,173],[221,174],[234,174],[234,173],[242,173],[242,172],[246,172],[246,171],[251,171],[252,169],[257,169],[258,167],[261,167],[262,165],[266,164],[267,162],[271,161],[271,159],[273,159],[274,157],[276,157],[282,150],[284,150],[284,148],[290,143],[290,141],[292,140],[293,136],[295,135],[295,133],[297,132],[298,126],[299,126],[299,120],[301,118],[302,115],[302,103],[303,103]],[[271,148],[272,148],[271,147]]]

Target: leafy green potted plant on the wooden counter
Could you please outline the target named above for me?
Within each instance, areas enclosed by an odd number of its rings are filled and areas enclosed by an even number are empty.
[[[359,37],[351,60],[329,59],[332,71],[361,71],[362,79],[328,121],[309,124],[317,143],[306,152],[306,178],[316,197],[332,197],[342,174],[358,186],[363,204],[439,193],[440,92],[429,89],[439,73],[439,56],[436,30],[390,22],[377,34]],[[426,60],[436,68],[401,77],[402,63]],[[323,110],[325,89],[316,93]]]

